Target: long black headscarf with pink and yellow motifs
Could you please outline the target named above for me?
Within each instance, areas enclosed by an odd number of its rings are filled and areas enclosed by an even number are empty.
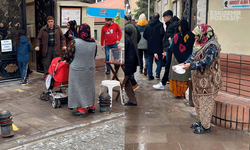
[[[179,63],[183,63],[192,54],[194,34],[188,29],[188,22],[182,19],[178,22],[179,33],[174,35],[173,53]]]

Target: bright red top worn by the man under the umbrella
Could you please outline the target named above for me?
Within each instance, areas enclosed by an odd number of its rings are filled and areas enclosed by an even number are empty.
[[[116,43],[116,41],[120,41],[121,38],[122,38],[122,31],[117,23],[113,23],[111,26],[104,25],[102,27],[102,35],[101,35],[102,46],[104,44],[113,45]]]

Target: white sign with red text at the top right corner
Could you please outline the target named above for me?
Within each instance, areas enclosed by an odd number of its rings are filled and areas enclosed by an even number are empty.
[[[222,9],[250,9],[250,0],[223,0]]]

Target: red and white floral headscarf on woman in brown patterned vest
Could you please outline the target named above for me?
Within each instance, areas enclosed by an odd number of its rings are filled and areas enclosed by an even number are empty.
[[[217,36],[214,34],[214,30],[210,25],[207,24],[200,24],[194,28],[192,31],[194,35],[199,36],[199,40],[195,42],[194,50],[198,51],[203,47],[208,40],[214,37],[217,40]]]

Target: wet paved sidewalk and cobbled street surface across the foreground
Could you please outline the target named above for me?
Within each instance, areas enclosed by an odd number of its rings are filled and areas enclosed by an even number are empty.
[[[101,81],[111,76],[106,76],[104,71],[96,72],[96,102]],[[27,86],[19,83],[2,85],[0,109],[12,113],[13,123],[19,130],[12,138],[0,138],[0,149],[58,149],[63,143],[66,146],[62,149],[98,149],[108,141],[112,144],[101,149],[249,149],[249,132],[212,126],[209,134],[194,134],[189,126],[197,121],[196,113],[193,107],[187,106],[186,100],[174,98],[168,85],[165,90],[154,90],[152,85],[159,80],[148,81],[139,73],[135,78],[140,85],[135,92],[138,106],[123,106],[119,99],[113,100],[112,111],[108,115],[100,113],[96,103],[96,113],[87,114],[85,118],[72,116],[67,104],[54,109],[49,101],[40,100],[44,85],[42,79],[33,79]],[[105,125],[113,130],[97,130]],[[110,132],[121,135],[107,134]],[[74,142],[79,136],[82,139]],[[86,141],[87,137],[96,142]]]

